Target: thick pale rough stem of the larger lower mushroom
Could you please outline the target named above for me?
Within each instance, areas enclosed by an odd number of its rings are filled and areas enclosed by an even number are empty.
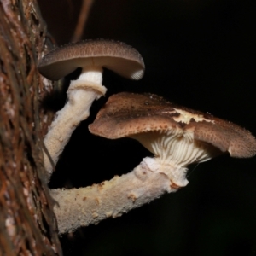
[[[132,172],[91,187],[52,189],[59,233],[119,217],[165,193],[177,191],[179,187],[170,180],[175,168],[152,169],[154,160],[147,157]]]

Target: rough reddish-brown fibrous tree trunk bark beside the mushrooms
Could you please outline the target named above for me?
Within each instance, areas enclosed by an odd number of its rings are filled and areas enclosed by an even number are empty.
[[[0,255],[61,255],[42,153],[51,117],[39,110],[52,84],[36,66],[47,47],[36,1],[0,1]]]

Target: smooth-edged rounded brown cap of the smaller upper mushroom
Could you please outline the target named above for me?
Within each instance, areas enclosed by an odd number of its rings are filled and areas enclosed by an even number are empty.
[[[87,40],[50,51],[39,61],[39,72],[58,80],[78,67],[106,67],[128,79],[141,79],[143,57],[130,45],[110,40]]]

